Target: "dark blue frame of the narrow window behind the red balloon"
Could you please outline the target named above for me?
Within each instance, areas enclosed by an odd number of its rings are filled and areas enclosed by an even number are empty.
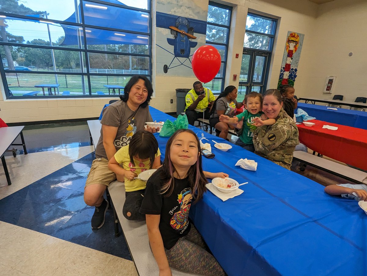
[[[221,66],[223,64],[223,76],[222,77],[215,76],[214,79],[212,80],[212,81],[214,81],[214,80],[222,80],[220,91],[223,91],[224,90],[224,82],[225,82],[225,78],[226,78],[227,60],[228,60],[228,45],[229,45],[230,25],[231,25],[231,22],[232,22],[232,7],[227,6],[227,5],[223,5],[223,4],[219,4],[219,3],[215,3],[215,2],[212,2],[212,1],[209,1],[208,6],[209,5],[210,6],[214,6],[214,7],[218,7],[218,8],[224,8],[224,9],[226,9],[226,10],[229,11],[229,18],[228,18],[228,23],[229,24],[228,24],[228,26],[227,25],[217,24],[217,23],[211,23],[211,22],[208,22],[207,21],[207,25],[217,26],[217,27],[225,27],[226,29],[228,29],[227,43],[218,43],[218,42],[211,42],[211,41],[205,40],[205,44],[206,45],[221,45],[221,46],[225,46],[226,47],[226,50],[225,50],[225,53],[224,53],[224,60],[221,60]],[[219,72],[220,72],[220,67],[219,67],[218,73]],[[214,95],[218,95],[219,93],[215,92]]]

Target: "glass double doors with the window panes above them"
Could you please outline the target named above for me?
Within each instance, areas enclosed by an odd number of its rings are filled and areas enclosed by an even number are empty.
[[[276,25],[274,18],[247,14],[237,101],[251,91],[265,91]]]

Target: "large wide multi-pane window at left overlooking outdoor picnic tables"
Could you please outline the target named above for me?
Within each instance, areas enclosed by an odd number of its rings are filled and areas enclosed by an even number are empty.
[[[151,78],[149,0],[3,3],[0,71],[7,98],[108,96],[134,74]]]

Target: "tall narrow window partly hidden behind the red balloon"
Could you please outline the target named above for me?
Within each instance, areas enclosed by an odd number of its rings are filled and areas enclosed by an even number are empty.
[[[209,2],[206,44],[217,48],[222,59],[217,76],[206,84],[206,87],[209,87],[213,93],[220,93],[224,90],[231,13],[232,7]]]

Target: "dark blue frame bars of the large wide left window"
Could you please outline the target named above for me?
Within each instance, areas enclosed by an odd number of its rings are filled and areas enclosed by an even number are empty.
[[[59,46],[33,45],[33,44],[23,44],[23,43],[10,43],[10,42],[3,42],[3,41],[0,41],[0,46],[7,45],[7,46],[14,46],[14,47],[28,47],[28,48],[38,48],[38,49],[41,48],[41,49],[50,49],[50,50],[64,50],[64,51],[66,50],[66,51],[81,52],[81,53],[84,54],[84,57],[85,57],[84,68],[83,69],[81,68],[80,73],[58,72],[58,71],[48,71],[48,72],[43,72],[43,71],[18,71],[18,70],[4,70],[3,63],[1,63],[0,75],[1,75],[1,79],[3,81],[6,99],[35,99],[34,96],[13,96],[10,93],[11,87],[8,87],[6,73],[40,74],[40,75],[50,75],[50,76],[74,75],[74,76],[80,76],[81,78],[87,77],[86,78],[87,84],[86,84],[86,87],[85,87],[86,95],[70,95],[70,96],[62,96],[62,95],[49,96],[49,95],[46,95],[46,96],[37,97],[36,99],[50,99],[50,98],[51,99],[55,99],[55,98],[64,99],[64,98],[111,97],[111,96],[115,97],[115,96],[119,96],[119,95],[92,95],[91,78],[90,77],[91,76],[132,77],[135,74],[133,74],[133,73],[131,73],[131,74],[90,73],[88,53],[149,57],[149,74],[144,75],[144,76],[146,76],[150,81],[152,81],[152,10],[151,10],[152,0],[147,0],[148,1],[148,10],[145,10],[145,9],[142,9],[142,8],[135,8],[135,7],[122,5],[122,3],[121,4],[109,3],[109,2],[101,1],[101,0],[85,0],[85,1],[94,2],[96,4],[103,4],[103,5],[109,5],[109,6],[118,7],[118,8],[125,8],[125,9],[129,9],[129,10],[145,12],[145,13],[149,14],[149,21],[148,21],[149,32],[147,32],[147,33],[145,33],[145,32],[134,32],[134,31],[131,31],[131,30],[116,29],[116,28],[110,28],[110,27],[101,27],[101,26],[94,26],[94,25],[84,24],[84,10],[83,10],[84,0],[79,0],[81,23],[40,18],[40,20],[47,21],[47,22],[50,22],[50,23],[57,23],[57,24],[61,24],[61,25],[71,25],[71,26],[81,27],[83,29],[83,39],[82,39],[81,43],[82,43],[84,48],[69,48],[69,47],[59,47]],[[4,15],[4,16],[10,17],[10,18],[12,17],[12,18],[19,18],[19,19],[29,19],[29,20],[32,20],[32,21],[34,21],[34,19],[35,19],[33,16],[11,14],[11,13],[7,13],[7,12],[0,12],[0,15]],[[148,36],[149,37],[149,41],[147,43],[148,44],[148,54],[133,54],[133,53],[126,53],[126,52],[100,51],[100,50],[88,49],[88,47],[87,47],[87,37],[86,37],[86,28],[110,30],[110,31],[114,31],[114,32],[126,32],[126,33],[142,34],[144,36]],[[3,57],[0,55],[1,60],[2,60],[2,58]],[[86,70],[84,70],[85,68],[86,68]]]

